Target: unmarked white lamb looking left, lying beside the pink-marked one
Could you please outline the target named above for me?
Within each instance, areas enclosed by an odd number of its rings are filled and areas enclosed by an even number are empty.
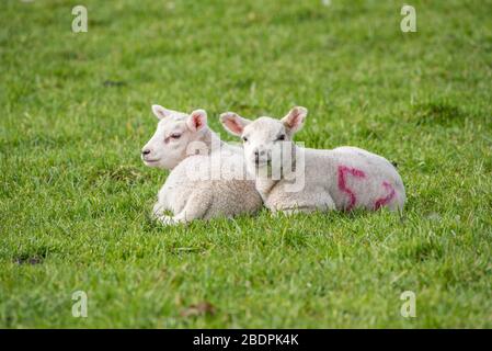
[[[160,122],[141,159],[146,166],[172,170],[152,210],[157,219],[174,225],[262,207],[254,181],[241,174],[245,172],[242,148],[220,141],[204,110],[187,115],[152,105],[152,112]]]

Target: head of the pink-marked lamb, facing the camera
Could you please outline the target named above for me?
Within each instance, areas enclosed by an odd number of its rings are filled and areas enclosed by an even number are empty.
[[[294,134],[302,127],[307,114],[307,109],[297,106],[282,120],[260,117],[250,121],[226,112],[220,115],[220,122],[229,133],[242,138],[245,162],[253,170],[271,166],[276,152],[294,147]]]

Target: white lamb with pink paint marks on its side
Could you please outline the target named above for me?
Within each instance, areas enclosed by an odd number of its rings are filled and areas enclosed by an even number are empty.
[[[297,106],[282,120],[250,121],[233,112],[220,116],[228,132],[242,137],[247,168],[255,177],[265,206],[286,214],[380,207],[402,211],[403,182],[387,159],[356,147],[320,150],[293,141],[307,113]]]

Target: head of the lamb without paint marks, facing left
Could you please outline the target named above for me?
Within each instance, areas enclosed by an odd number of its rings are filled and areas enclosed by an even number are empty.
[[[144,146],[141,159],[149,167],[173,169],[191,155],[191,146],[208,131],[204,110],[191,114],[152,105],[160,120],[152,138]]]

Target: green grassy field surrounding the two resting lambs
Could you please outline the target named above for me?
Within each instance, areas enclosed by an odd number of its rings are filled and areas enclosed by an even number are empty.
[[[492,327],[492,1],[411,1],[416,33],[400,1],[80,3],[88,33],[0,2],[0,327]],[[161,227],[152,103],[229,140],[307,106],[297,139],[398,162],[405,212]]]

